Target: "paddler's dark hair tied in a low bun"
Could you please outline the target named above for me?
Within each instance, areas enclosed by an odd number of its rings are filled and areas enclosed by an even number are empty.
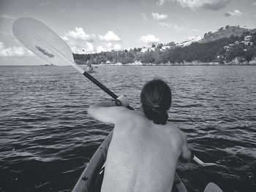
[[[144,85],[140,93],[143,112],[149,120],[165,125],[170,109],[172,93],[163,80],[151,80]]]

